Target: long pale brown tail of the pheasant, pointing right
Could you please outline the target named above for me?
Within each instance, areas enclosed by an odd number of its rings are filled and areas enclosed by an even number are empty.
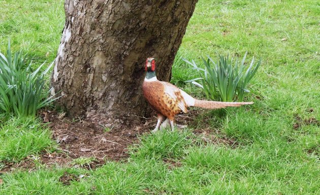
[[[214,102],[214,101],[204,101],[196,100],[195,106],[208,109],[216,108],[226,108],[226,107],[239,107],[242,105],[253,104],[253,102]]]

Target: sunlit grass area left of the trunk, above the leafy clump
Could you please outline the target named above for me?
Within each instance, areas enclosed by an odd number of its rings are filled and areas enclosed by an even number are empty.
[[[28,51],[35,62],[52,62],[65,24],[63,2],[1,0],[0,50],[10,39],[14,50]]]

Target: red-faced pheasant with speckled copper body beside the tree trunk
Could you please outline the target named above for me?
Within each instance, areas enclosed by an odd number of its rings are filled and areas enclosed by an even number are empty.
[[[157,112],[158,121],[152,132],[156,132],[165,119],[169,119],[170,127],[174,129],[174,117],[176,114],[187,113],[190,106],[217,109],[226,107],[239,107],[253,104],[253,102],[214,102],[197,100],[171,83],[158,81],[155,76],[155,59],[147,58],[142,90],[144,98]]]

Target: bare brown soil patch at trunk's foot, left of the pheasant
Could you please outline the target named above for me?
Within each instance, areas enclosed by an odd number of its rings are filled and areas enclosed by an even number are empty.
[[[42,118],[48,122],[55,140],[65,158],[71,161],[79,157],[94,157],[97,165],[106,160],[120,160],[129,156],[127,146],[138,141],[138,135],[150,132],[152,118],[145,119],[144,123],[134,128],[106,129],[99,122],[86,120],[71,120],[61,117],[56,112],[43,112]],[[50,163],[61,156],[43,155],[44,163]],[[59,160],[66,164],[65,159]],[[68,160],[67,160],[68,161]]]

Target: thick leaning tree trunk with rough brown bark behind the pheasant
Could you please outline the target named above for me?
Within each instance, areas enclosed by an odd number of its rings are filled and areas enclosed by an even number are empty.
[[[71,117],[120,127],[149,111],[141,85],[147,57],[168,81],[197,0],[66,0],[66,24],[51,77]]]

